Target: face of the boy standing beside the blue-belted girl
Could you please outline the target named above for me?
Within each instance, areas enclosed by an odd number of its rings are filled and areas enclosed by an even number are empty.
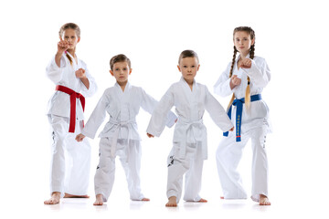
[[[187,82],[193,82],[196,77],[196,71],[200,68],[196,57],[184,57],[180,60],[177,66],[178,70],[182,72],[183,78]]]

